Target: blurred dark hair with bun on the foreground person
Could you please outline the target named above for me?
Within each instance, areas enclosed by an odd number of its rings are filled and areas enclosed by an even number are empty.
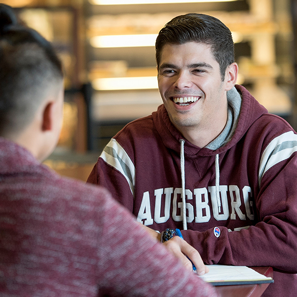
[[[0,135],[26,127],[62,79],[51,44],[21,25],[10,6],[0,4]]]

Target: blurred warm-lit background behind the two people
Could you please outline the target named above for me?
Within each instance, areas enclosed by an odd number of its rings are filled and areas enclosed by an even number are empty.
[[[165,23],[189,12],[230,28],[238,83],[297,129],[297,0],[1,2],[49,39],[63,61],[63,128],[45,161],[63,175],[85,181],[110,138],[162,103],[154,41]]]

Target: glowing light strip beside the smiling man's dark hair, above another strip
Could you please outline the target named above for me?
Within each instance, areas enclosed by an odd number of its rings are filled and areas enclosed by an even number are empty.
[[[153,47],[157,34],[103,35],[90,39],[94,48]]]

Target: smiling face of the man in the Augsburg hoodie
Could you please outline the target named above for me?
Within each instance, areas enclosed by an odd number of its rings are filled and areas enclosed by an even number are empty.
[[[188,42],[166,44],[162,49],[159,91],[171,122],[181,132],[193,127],[209,130],[217,121],[226,123],[225,81],[208,45]]]

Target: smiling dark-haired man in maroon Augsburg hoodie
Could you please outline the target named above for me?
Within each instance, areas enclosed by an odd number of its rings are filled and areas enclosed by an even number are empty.
[[[183,229],[205,263],[272,266],[263,296],[297,296],[296,132],[236,85],[232,35],[218,19],[172,19],[156,61],[164,104],[111,139],[88,181],[157,239]]]

